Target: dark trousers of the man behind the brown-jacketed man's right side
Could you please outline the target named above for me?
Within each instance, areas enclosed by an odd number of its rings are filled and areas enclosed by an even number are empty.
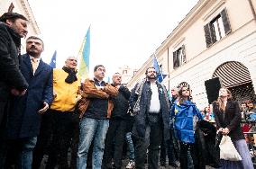
[[[114,159],[114,168],[121,168],[125,131],[126,120],[109,121],[109,128],[105,136],[103,168],[111,168],[112,158]]]

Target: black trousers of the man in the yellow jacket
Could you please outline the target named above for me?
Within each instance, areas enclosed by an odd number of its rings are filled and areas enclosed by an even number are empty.
[[[52,111],[51,113],[53,114],[53,135],[46,168],[53,169],[57,164],[59,169],[69,168],[69,147],[73,148],[71,149],[71,168],[76,168],[79,136],[78,114],[61,111]],[[71,146],[72,144],[73,146]]]

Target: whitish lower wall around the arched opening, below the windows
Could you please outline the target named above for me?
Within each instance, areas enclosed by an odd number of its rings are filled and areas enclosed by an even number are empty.
[[[194,67],[189,67],[184,72],[172,76],[170,85],[174,86],[183,81],[190,84],[194,102],[197,102],[198,107],[203,108],[208,104],[205,81],[211,79],[215,69],[227,61],[238,61],[247,67],[252,84],[256,86],[256,32],[209,56]]]

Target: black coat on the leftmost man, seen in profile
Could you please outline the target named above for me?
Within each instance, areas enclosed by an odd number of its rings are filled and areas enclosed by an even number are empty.
[[[4,22],[0,22],[0,101],[10,99],[10,89],[24,90],[28,87],[19,69],[21,38]]]

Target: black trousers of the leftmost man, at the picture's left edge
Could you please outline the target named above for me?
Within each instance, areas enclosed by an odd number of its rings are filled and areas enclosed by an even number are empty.
[[[5,166],[7,154],[6,125],[9,112],[9,102],[0,102],[0,168]]]

